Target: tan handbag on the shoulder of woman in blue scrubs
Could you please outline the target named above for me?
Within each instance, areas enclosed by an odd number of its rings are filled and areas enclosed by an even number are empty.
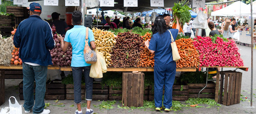
[[[168,30],[170,32],[170,30]],[[171,34],[171,38],[172,38],[172,41],[171,41],[171,46],[172,46],[172,59],[177,62],[178,60],[180,60],[180,54],[179,54],[179,51],[178,51],[178,48],[177,48],[177,45],[173,39],[173,36],[172,36],[172,33],[170,32]]]

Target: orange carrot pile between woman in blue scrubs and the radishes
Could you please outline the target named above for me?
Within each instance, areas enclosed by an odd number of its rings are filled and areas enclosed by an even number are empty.
[[[180,60],[176,62],[177,68],[198,68],[199,67],[199,52],[193,45],[191,38],[181,38],[175,41],[180,54]]]

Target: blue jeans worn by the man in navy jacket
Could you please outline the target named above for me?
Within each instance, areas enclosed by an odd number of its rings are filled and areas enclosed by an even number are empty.
[[[33,108],[33,114],[41,113],[44,109],[44,95],[47,77],[47,66],[32,66],[26,63],[23,69],[23,97],[26,111]],[[36,81],[36,98],[34,105],[34,81]]]

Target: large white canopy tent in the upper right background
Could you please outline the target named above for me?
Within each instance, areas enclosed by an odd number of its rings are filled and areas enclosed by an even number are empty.
[[[211,13],[211,16],[250,16],[251,15],[251,8],[241,2],[237,1],[232,3],[231,5],[214,11]]]

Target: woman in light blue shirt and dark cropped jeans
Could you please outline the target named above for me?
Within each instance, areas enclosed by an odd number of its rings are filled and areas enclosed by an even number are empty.
[[[91,64],[88,64],[84,60],[84,45],[86,37],[86,27],[81,25],[82,13],[79,11],[74,11],[72,14],[72,23],[75,25],[72,29],[68,30],[65,35],[65,39],[62,36],[58,36],[58,40],[61,42],[62,51],[66,52],[68,45],[71,43],[72,46],[72,60],[71,68],[74,81],[74,99],[77,105],[77,110],[75,114],[83,114],[81,109],[81,79],[82,74],[85,78],[86,86],[86,100],[87,100],[87,109],[86,114],[93,114],[94,111],[91,109],[91,100],[92,100],[92,83],[93,78],[89,77]],[[92,30],[89,28],[88,32],[89,46],[92,49],[96,48],[94,43],[94,35]]]

